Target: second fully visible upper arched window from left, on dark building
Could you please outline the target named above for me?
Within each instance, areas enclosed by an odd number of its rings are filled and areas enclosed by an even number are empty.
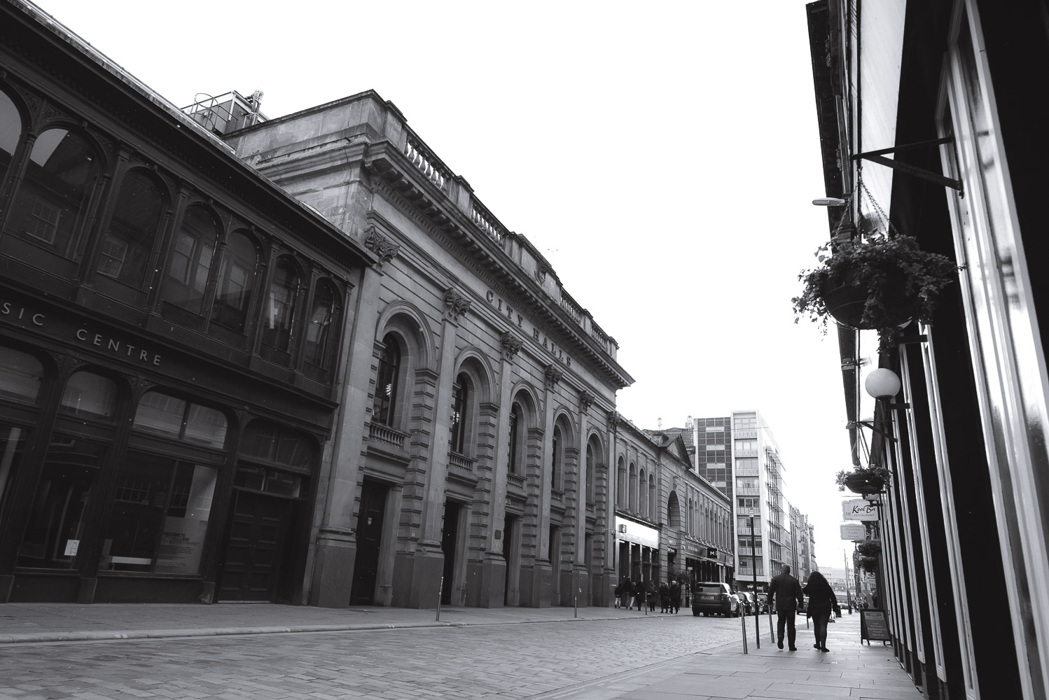
[[[142,289],[163,209],[164,197],[153,180],[138,172],[124,177],[109,231],[102,239],[100,274]]]

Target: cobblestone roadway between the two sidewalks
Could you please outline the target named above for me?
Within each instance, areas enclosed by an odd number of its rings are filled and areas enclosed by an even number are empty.
[[[0,700],[572,697],[573,687],[738,639],[737,620],[683,614],[5,644]]]

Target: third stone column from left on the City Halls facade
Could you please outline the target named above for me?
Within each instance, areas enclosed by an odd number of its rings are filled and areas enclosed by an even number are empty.
[[[505,332],[499,342],[502,350],[498,376],[499,412],[502,416],[498,420],[498,430],[495,434],[495,479],[492,486],[492,503],[489,509],[491,526],[488,529],[488,551],[480,567],[478,605],[481,608],[502,607],[504,584],[507,577],[507,561],[502,551],[506,533],[502,531],[502,523],[507,517],[507,469],[510,468],[509,416],[510,402],[513,400],[510,392],[514,385],[514,355],[520,352],[523,346],[523,343],[510,331]]]

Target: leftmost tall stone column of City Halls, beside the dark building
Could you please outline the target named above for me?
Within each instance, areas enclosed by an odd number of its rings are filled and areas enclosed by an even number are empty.
[[[378,234],[376,234],[378,236]],[[379,236],[368,247],[389,262],[398,246]],[[371,382],[371,357],[376,343],[376,324],[379,322],[379,287],[381,269],[366,267],[357,296],[357,308],[346,333],[346,378],[340,401],[337,424],[333,431],[330,477],[325,495],[324,512],[314,548],[313,577],[309,585],[311,605],[322,608],[345,608],[349,605],[349,591],[354,583],[354,561],[357,541],[354,528],[364,463],[365,431],[371,419],[368,393]]]

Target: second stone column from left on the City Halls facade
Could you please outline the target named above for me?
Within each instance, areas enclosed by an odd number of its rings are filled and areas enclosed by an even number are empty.
[[[452,385],[455,381],[455,338],[458,319],[470,308],[470,301],[455,289],[445,291],[441,323],[441,369],[433,396],[433,435],[426,456],[426,489],[423,499],[422,527],[415,548],[411,575],[412,608],[436,607],[445,554],[441,535],[445,519],[445,482],[448,478],[448,451],[451,445]],[[451,586],[452,582],[444,582]]]

